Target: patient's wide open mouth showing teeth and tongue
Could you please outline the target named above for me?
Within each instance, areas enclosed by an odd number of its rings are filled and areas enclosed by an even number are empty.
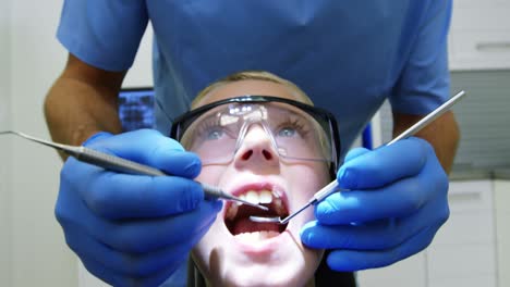
[[[262,204],[269,210],[264,211],[246,204],[228,202],[224,215],[224,225],[233,236],[252,240],[264,240],[276,237],[283,233],[287,224],[257,223],[250,220],[250,216],[280,216],[289,215],[286,202],[270,190],[245,190],[238,195],[252,203]]]

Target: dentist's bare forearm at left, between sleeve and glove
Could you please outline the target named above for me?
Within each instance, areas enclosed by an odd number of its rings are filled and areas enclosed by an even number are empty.
[[[45,100],[53,141],[81,145],[100,130],[120,133],[117,95],[122,78],[123,73],[100,71],[71,55]]]

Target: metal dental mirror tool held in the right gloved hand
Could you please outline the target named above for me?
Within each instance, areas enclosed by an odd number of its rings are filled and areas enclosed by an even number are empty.
[[[448,101],[446,101],[444,104],[438,107],[436,110],[432,111],[429,114],[427,114],[425,117],[420,120],[416,124],[411,126],[410,128],[405,129],[402,134],[393,138],[391,141],[386,144],[386,146],[390,146],[401,139],[408,138],[417,132],[420,132],[422,128],[427,126],[429,123],[432,123],[434,120],[436,120],[438,116],[444,114],[446,111],[448,111],[454,103],[457,103],[463,96],[465,95],[465,91],[461,90],[459,93],[456,96],[451,97]],[[312,204],[316,204],[320,202],[323,199],[327,198],[329,195],[336,191],[349,191],[347,189],[342,189],[338,187],[338,180],[332,180],[329,183],[327,186],[325,186],[323,189],[317,191],[315,195],[313,195],[312,199],[304,204],[301,209],[295,211],[294,213],[288,215],[283,220],[281,217],[260,217],[260,216],[250,216],[250,220],[253,222],[258,222],[258,223],[279,223],[279,224],[287,224],[292,217],[295,215],[300,214],[303,210],[308,208]]]

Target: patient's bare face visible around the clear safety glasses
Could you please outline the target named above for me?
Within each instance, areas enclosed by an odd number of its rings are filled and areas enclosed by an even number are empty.
[[[211,91],[198,105],[242,95],[266,95],[302,101],[291,88],[270,82],[242,80]],[[251,127],[233,160],[204,165],[197,180],[221,187],[239,197],[271,201],[271,211],[289,214],[305,204],[328,183],[321,162],[282,161],[267,134]],[[314,219],[313,208],[288,225],[254,223],[257,209],[224,202],[193,257],[212,286],[304,286],[317,269],[323,252],[304,247],[300,229]]]

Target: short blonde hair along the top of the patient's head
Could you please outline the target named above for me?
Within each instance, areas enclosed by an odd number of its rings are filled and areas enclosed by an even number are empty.
[[[281,78],[272,73],[266,72],[266,71],[242,71],[238,72],[234,74],[231,74],[218,82],[215,82],[207,86],[205,89],[203,89],[198,95],[195,97],[193,100],[191,108],[194,109],[198,104],[201,100],[203,100],[207,95],[209,95],[212,90],[227,85],[229,83],[234,83],[234,82],[240,82],[240,80],[246,80],[246,79],[256,79],[256,80],[266,80],[266,82],[271,82],[271,83],[277,83],[283,86],[287,86],[293,91],[294,96],[298,98],[301,98],[301,100],[304,103],[307,103],[309,105],[313,105],[314,103],[312,100],[306,96],[306,93],[298,87],[294,83],[287,80],[284,78]],[[240,95],[241,96],[241,95]]]

